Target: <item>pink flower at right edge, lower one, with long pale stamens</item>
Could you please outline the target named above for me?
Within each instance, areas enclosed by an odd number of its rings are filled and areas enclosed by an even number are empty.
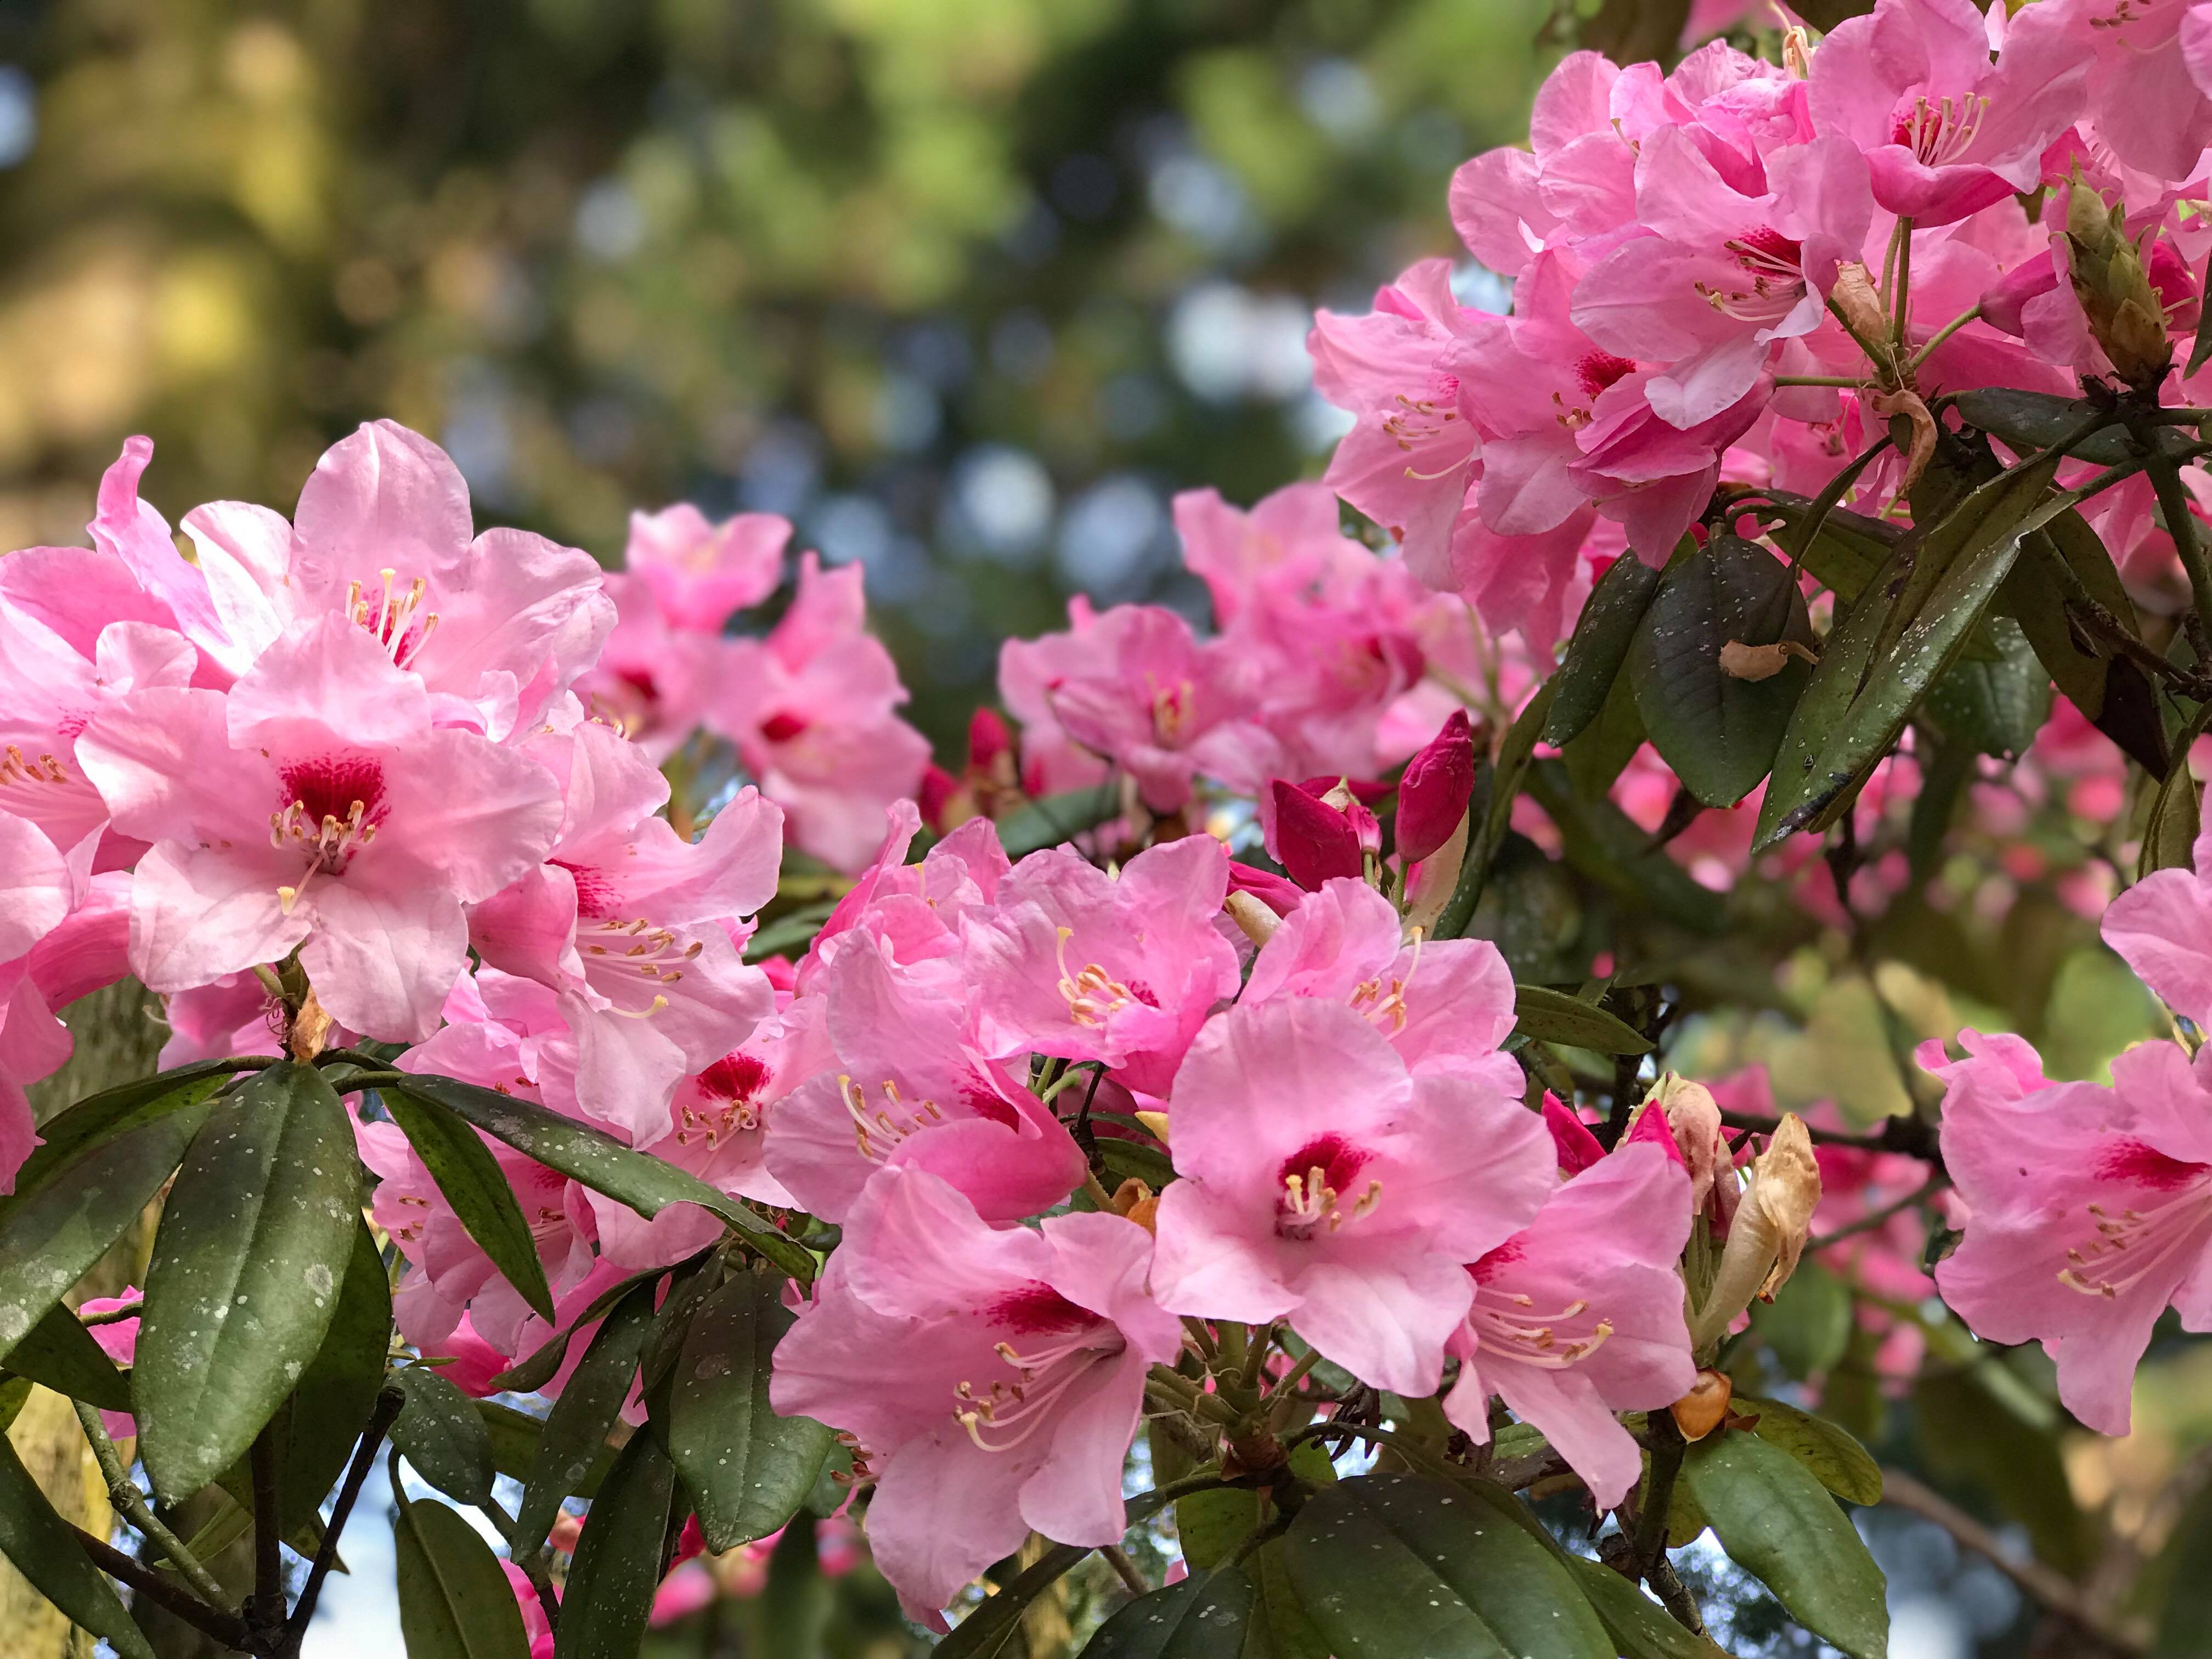
[[[1936,1283],[1978,1336],[2039,1340],[2066,1409],[2126,1433],[2159,1314],[2212,1329],[2212,1062],[2148,1042],[2101,1088],[2046,1082],[2020,1037],[1960,1042],[1958,1062],[1920,1051],[1949,1084],[1944,1168],[1971,1210]]]

